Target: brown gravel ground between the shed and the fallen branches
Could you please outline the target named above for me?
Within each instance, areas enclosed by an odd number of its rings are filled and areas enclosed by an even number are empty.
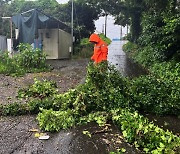
[[[53,68],[52,72],[28,73],[23,77],[0,74],[0,104],[17,101],[18,89],[32,84],[34,78],[55,81],[60,93],[75,88],[85,80],[88,59],[48,60],[47,63]]]

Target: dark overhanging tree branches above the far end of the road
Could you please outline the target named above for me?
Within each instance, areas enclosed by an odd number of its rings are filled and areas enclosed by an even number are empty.
[[[115,16],[116,23],[131,24],[131,40],[136,42],[141,33],[141,16],[144,8],[143,0],[85,0],[89,5],[101,8]],[[96,5],[97,4],[97,5]]]

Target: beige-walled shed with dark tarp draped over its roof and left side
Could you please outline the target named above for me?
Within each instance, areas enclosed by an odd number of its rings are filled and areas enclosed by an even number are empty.
[[[30,16],[25,16],[27,13]],[[33,44],[42,49],[48,59],[70,58],[72,37],[70,27],[63,22],[45,15],[37,9],[12,17],[17,30],[17,43]]]

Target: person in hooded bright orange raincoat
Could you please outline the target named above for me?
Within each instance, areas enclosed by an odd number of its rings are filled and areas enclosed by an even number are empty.
[[[99,35],[93,33],[91,34],[89,41],[91,43],[94,43],[94,53],[91,59],[97,64],[102,61],[107,61],[107,55],[108,55],[108,47],[107,44],[101,40]]]

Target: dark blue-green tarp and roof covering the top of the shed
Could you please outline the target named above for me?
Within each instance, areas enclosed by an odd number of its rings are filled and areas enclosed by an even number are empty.
[[[31,13],[27,16],[27,13]],[[19,29],[19,43],[33,43],[38,38],[38,29],[62,29],[70,32],[70,27],[63,22],[44,14],[38,9],[32,9],[12,17],[16,28]]]

